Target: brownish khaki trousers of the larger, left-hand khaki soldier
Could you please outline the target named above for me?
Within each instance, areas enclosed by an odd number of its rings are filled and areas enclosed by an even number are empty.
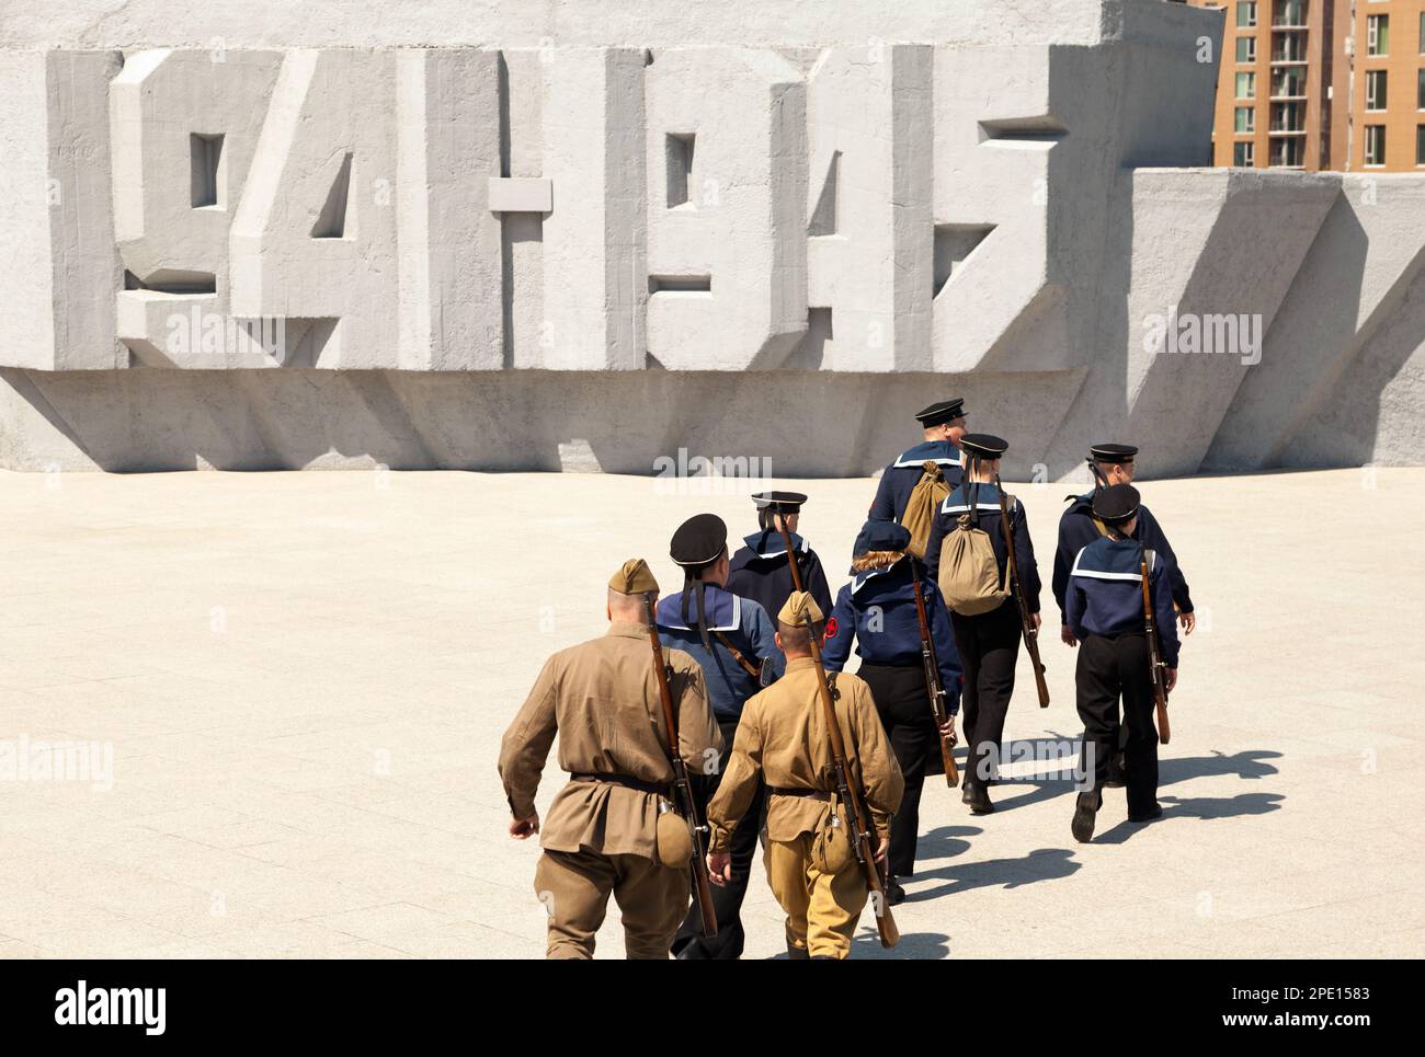
[[[688,875],[641,855],[544,849],[534,892],[549,913],[546,957],[591,959],[613,895],[623,915],[626,954],[665,959],[688,909]]]

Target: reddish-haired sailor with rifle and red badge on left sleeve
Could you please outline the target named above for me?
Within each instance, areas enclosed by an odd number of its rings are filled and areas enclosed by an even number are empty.
[[[836,607],[826,621],[821,651],[826,671],[842,671],[856,640],[861,658],[858,675],[871,687],[881,725],[895,751],[905,795],[891,821],[891,878],[886,895],[892,905],[905,899],[896,878],[915,873],[915,843],[921,828],[921,786],[926,774],[942,774],[939,731],[931,709],[921,660],[921,621],[915,608],[915,578],[921,580],[925,617],[935,644],[935,661],[950,714],[949,734],[955,739],[955,715],[960,708],[960,658],[950,631],[950,611],[935,581],[923,574],[915,556],[906,553],[911,533],[895,521],[866,521],[856,536],[851,563],[852,581],[836,594]]]

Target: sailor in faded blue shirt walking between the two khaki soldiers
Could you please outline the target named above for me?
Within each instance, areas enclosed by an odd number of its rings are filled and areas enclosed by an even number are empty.
[[[785,660],[777,648],[777,631],[761,605],[725,590],[727,524],[717,514],[697,514],[673,534],[673,560],[683,566],[683,590],[658,600],[654,620],[658,638],[670,650],[683,650],[703,667],[712,718],[722,731],[722,744],[731,751],[742,705],[765,684],[781,677]],[[698,811],[717,792],[722,778],[721,761],[694,772],[693,795]],[[758,786],[748,819],[761,819],[767,793]],[[704,816],[705,818],[705,816]],[[740,910],[752,870],[757,835],[761,823],[738,826],[732,836],[732,879],[714,886],[717,936],[703,936],[703,915],[693,909],[673,939],[673,954],[680,959],[735,959],[742,956],[745,934]]]

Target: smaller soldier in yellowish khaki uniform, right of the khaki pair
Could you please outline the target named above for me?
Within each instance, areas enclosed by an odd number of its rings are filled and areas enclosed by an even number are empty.
[[[826,714],[802,613],[811,614],[821,634],[821,608],[805,591],[794,591],[777,614],[777,645],[787,655],[787,674],[744,707],[731,761],[708,805],[708,872],[715,883],[731,875],[728,842],[761,775],[768,792],[767,880],[787,912],[787,953],[794,959],[844,959],[866,905],[866,876],[835,802]],[[835,685],[852,781],[865,791],[884,869],[891,815],[905,788],[901,768],[866,684],[842,674]]]

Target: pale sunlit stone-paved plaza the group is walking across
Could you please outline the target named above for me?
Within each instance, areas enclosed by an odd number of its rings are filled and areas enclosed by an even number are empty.
[[[872,481],[777,486],[811,494],[835,590]],[[1200,613],[1166,816],[1129,826],[1112,791],[1084,846],[1066,782],[1002,786],[989,818],[928,782],[892,954],[1425,954],[1422,486],[1146,483]],[[1047,578],[1069,489],[1013,490]],[[601,632],[620,561],[673,590],[684,517],[754,527],[744,489],[597,474],[0,474],[0,509],[7,957],[540,956],[499,738],[544,657]],[[1022,689],[1006,736],[1079,731],[1073,660],[1046,635],[1053,704]],[[63,741],[111,771],[47,781]],[[748,956],[779,954],[760,869],[744,915]],[[854,954],[882,953],[864,922]]]

